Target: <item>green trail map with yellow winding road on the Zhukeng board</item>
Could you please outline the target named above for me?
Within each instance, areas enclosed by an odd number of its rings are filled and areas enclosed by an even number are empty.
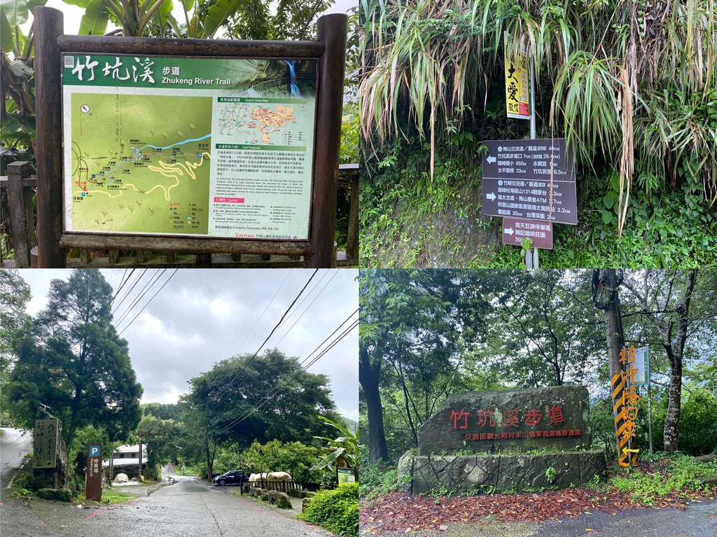
[[[72,229],[207,234],[212,98],[72,93]]]

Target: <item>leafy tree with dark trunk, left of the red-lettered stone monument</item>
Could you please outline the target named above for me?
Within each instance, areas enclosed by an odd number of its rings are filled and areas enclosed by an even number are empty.
[[[415,445],[423,422],[460,383],[459,351],[475,337],[483,302],[470,272],[366,270],[359,305],[369,452],[371,462],[388,461],[384,404],[394,404]]]

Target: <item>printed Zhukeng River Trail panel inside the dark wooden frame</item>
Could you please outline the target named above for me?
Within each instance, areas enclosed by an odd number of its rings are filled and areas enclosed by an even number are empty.
[[[63,66],[66,231],[308,239],[315,60]]]

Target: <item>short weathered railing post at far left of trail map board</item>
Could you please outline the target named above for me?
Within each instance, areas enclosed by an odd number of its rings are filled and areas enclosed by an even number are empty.
[[[23,186],[22,180],[30,176],[29,162],[7,165],[7,199],[12,226],[12,244],[15,249],[15,267],[30,266],[30,250],[35,245],[32,227],[32,189]]]

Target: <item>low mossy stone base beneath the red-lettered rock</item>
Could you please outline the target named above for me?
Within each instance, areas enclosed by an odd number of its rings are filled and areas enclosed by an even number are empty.
[[[398,465],[409,475],[402,492],[536,492],[587,485],[605,477],[603,450],[541,455],[416,455],[407,452]],[[596,477],[597,476],[597,477]]]

